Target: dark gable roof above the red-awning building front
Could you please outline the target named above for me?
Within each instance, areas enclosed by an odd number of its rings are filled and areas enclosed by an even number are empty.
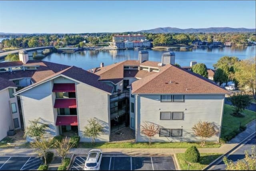
[[[83,70],[82,68],[78,68],[78,67],[75,67],[75,66],[71,66],[69,68],[66,68],[64,70],[61,70],[60,72],[57,72],[55,74],[52,74],[42,80],[40,80],[39,82],[36,82],[35,84],[32,84],[32,85],[29,85],[23,89],[21,89],[20,91],[17,91],[15,93],[16,94],[19,94],[19,93],[22,93],[28,89],[31,89],[32,87],[35,87],[37,85],[40,85],[44,82],[47,82],[51,79],[54,79],[58,76],[67,76],[69,78],[72,78],[74,80],[77,80],[78,82],[82,82],[82,83],[85,83],[85,84],[88,84],[88,85],[91,85],[93,87],[96,87],[98,89],[101,89],[103,91],[106,91],[108,93],[112,93],[112,89],[113,87],[110,86],[110,85],[106,85],[102,82],[99,82],[98,81],[98,78],[99,76],[96,76],[95,74],[92,74],[86,70]]]

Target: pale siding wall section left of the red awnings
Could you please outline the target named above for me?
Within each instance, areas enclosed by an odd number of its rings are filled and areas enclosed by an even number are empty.
[[[52,81],[38,85],[32,89],[20,93],[22,99],[25,126],[29,126],[30,120],[41,118],[42,123],[49,125],[48,132],[51,136],[56,135],[54,117],[54,101],[52,98]],[[28,138],[28,141],[32,139]]]

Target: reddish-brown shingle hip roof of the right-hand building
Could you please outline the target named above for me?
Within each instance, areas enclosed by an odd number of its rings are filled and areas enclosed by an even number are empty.
[[[170,81],[172,83],[170,83]],[[170,94],[170,93],[206,93],[228,94],[222,87],[208,79],[178,68],[171,64],[160,68],[160,72],[152,74],[132,83],[132,93],[136,94]]]

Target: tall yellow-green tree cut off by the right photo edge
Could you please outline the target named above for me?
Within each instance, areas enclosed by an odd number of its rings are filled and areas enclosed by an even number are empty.
[[[240,86],[250,87],[254,99],[255,88],[256,88],[256,57],[250,58],[248,60],[242,60],[235,65],[235,79],[238,81]]]

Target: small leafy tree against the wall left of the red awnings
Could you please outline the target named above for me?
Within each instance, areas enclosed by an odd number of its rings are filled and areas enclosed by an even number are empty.
[[[28,127],[26,127],[25,130],[25,136],[29,136],[32,138],[36,138],[36,140],[39,140],[41,137],[46,134],[46,129],[49,127],[47,124],[40,123],[40,118],[34,119],[33,121],[29,121]]]

